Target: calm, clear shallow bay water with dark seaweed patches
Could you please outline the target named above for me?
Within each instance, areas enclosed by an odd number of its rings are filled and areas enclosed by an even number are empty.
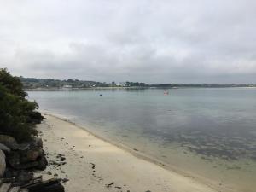
[[[256,189],[256,89],[29,91],[40,109],[237,191]],[[99,96],[102,94],[102,96]]]

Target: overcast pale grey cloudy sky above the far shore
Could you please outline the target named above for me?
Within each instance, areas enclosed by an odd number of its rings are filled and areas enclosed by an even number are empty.
[[[256,84],[255,0],[0,0],[0,67],[102,82]]]

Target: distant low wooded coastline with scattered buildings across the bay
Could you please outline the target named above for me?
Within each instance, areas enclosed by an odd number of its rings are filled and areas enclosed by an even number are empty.
[[[145,84],[142,82],[96,82],[79,79],[36,79],[20,77],[26,90],[40,89],[86,89],[86,88],[221,88],[221,87],[256,87],[256,84]]]

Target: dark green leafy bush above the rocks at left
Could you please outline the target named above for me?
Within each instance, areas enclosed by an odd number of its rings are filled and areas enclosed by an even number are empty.
[[[26,92],[20,78],[13,77],[7,69],[0,68],[0,134],[28,141],[37,134],[32,117],[36,102],[26,100]]]

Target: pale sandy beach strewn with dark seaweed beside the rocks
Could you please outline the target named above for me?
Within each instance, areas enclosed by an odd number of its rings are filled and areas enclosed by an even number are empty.
[[[95,137],[79,126],[44,114],[46,120],[38,125],[43,138],[49,166],[43,174],[68,178],[67,192],[216,192],[193,177],[164,169],[147,160]],[[67,164],[53,165],[61,162]]]

